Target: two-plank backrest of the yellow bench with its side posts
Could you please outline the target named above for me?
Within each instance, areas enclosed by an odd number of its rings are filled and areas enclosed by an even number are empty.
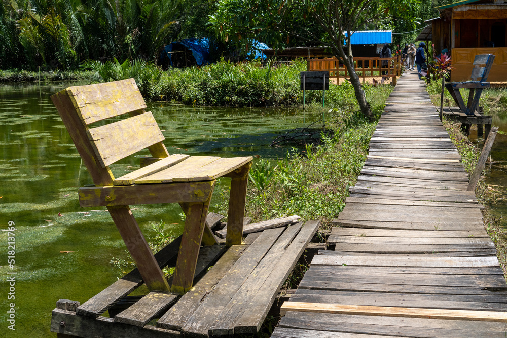
[[[150,149],[154,157],[168,156],[134,79],[69,87],[51,99],[96,185],[112,184],[108,166],[141,149]],[[90,126],[124,114],[123,120]]]

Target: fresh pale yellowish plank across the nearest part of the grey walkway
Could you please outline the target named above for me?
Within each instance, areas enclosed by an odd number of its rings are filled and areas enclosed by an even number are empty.
[[[283,303],[281,306],[280,314],[285,315],[287,311],[449,320],[476,320],[507,323],[507,312],[500,311],[399,308],[386,306],[344,305],[291,301]]]

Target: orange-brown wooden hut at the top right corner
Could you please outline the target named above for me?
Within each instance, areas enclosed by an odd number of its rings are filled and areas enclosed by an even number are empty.
[[[494,54],[488,80],[507,83],[507,1],[464,0],[437,7],[431,21],[436,55],[447,48],[454,69],[451,81],[469,80],[477,54]]]

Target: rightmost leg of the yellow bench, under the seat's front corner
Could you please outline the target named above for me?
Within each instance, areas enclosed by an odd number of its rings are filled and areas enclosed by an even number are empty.
[[[229,197],[229,213],[227,216],[226,245],[229,247],[243,241],[243,222],[245,217],[246,186],[251,162],[239,168],[231,176],[231,195]]]

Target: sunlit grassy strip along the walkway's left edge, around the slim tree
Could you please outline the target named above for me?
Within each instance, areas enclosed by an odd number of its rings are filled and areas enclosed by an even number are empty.
[[[348,187],[355,183],[366,160],[376,123],[358,110],[351,85],[336,87],[328,96],[335,108],[327,115],[336,136],[324,137],[322,145],[307,146],[304,155],[294,149],[278,161],[262,193],[249,185],[247,211],[255,221],[297,214],[329,224],[343,210]],[[378,118],[392,87],[365,89]]]

